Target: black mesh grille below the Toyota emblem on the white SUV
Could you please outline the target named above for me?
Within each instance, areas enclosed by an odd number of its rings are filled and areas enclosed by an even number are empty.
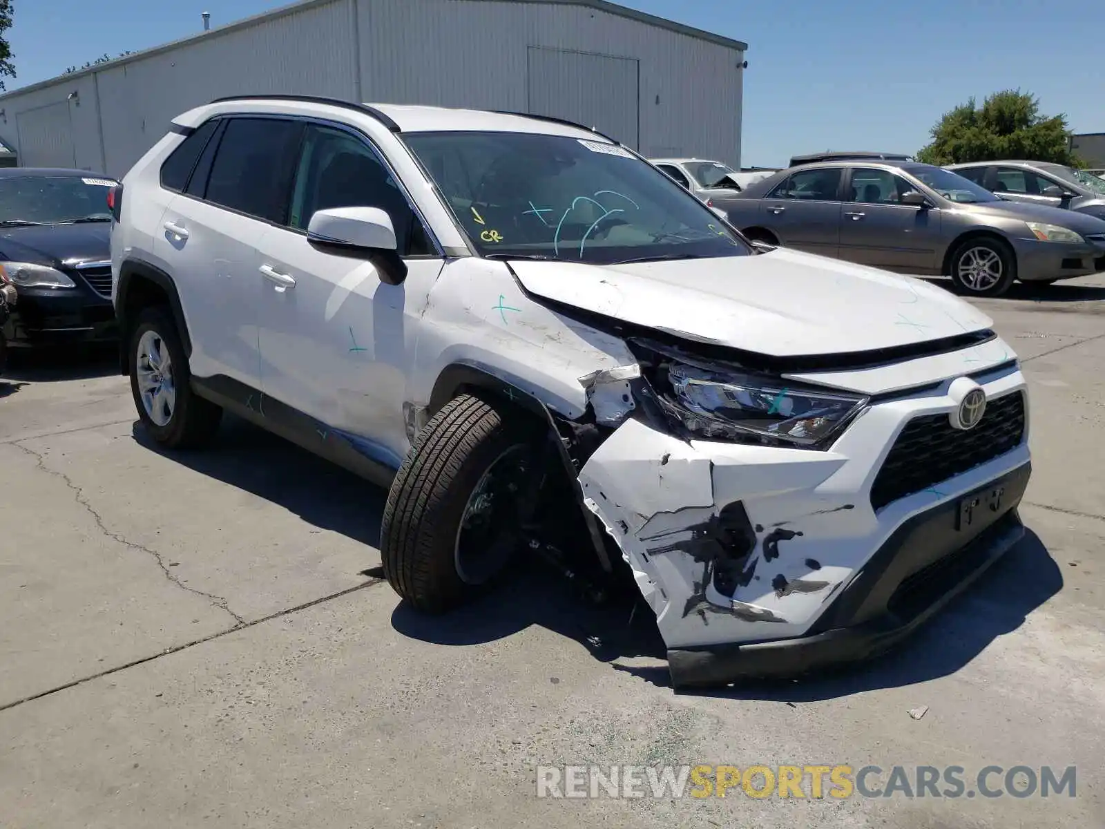
[[[871,505],[887,504],[961,475],[1015,449],[1024,438],[1024,395],[987,401],[982,420],[962,431],[945,412],[906,423],[871,487]]]

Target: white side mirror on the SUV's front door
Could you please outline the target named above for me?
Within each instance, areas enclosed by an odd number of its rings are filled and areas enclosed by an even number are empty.
[[[307,241],[329,253],[367,259],[388,285],[407,279],[407,263],[391,217],[379,208],[348,207],[318,210],[307,224]]]

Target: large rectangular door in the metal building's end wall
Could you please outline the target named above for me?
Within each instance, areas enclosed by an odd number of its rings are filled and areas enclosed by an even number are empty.
[[[603,135],[638,146],[641,96],[639,62],[588,52],[530,46],[528,112],[568,118]],[[602,83],[596,83],[596,78]]]

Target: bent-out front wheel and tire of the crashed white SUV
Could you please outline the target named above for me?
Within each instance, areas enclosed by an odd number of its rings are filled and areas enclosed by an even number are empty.
[[[419,433],[388,493],[383,575],[417,610],[446,612],[490,586],[522,541],[538,474],[535,423],[505,403],[461,395]]]

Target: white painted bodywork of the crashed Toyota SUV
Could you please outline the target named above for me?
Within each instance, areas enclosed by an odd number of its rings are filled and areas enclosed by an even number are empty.
[[[378,108],[406,132],[516,130],[596,140],[582,128],[518,116]],[[566,419],[592,411],[614,431],[579,474],[586,505],[633,568],[669,647],[800,636],[903,522],[1028,461],[1025,432],[1015,450],[938,490],[877,513],[870,506],[872,481],[895,437],[911,418],[951,411],[954,379],[992,368],[999,370],[980,378],[988,397],[1025,390],[1019,367],[1009,365],[1011,349],[997,338],[863,369],[788,375],[867,395],[901,392],[866,407],[831,449],[813,451],[688,441],[635,417],[625,392],[640,371],[627,342],[570,313],[674,334],[688,349],[707,343],[775,357],[876,350],[990,325],[940,288],[781,249],[717,260],[507,265],[474,254],[406,146],[371,115],[324,103],[248,101],[198,107],[175,123],[194,127],[229,112],[325,118],[362,132],[386,156],[443,255],[409,260],[406,282],[388,285],[371,262],[315,250],[302,233],[238,221],[187,197],[166,198],[156,171],[180,140],[166,138],[124,179],[113,265],[117,276],[133,256],[173,274],[192,333],[193,375],[252,380],[262,405],[269,397],[355,433],[393,463],[410,451],[418,428],[408,412],[430,405],[450,366],[502,378]],[[165,218],[155,222],[162,201]],[[136,203],[156,209],[136,214]],[[188,230],[188,259],[175,258],[165,221]],[[294,287],[273,272],[294,280]],[[939,388],[924,388],[933,382]],[[801,535],[778,541],[777,556],[770,535],[758,542],[756,560],[770,564],[762,580],[729,598],[696,584],[702,565],[692,556],[650,554],[657,537],[685,536],[735,500],[762,527],[800,522]],[[808,565],[814,557],[815,573]],[[804,586],[777,591],[776,576]]]

